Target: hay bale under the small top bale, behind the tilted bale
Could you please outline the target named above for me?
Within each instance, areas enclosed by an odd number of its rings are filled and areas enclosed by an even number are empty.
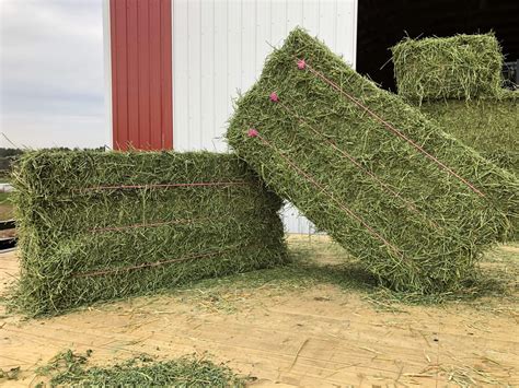
[[[445,131],[519,177],[519,92],[498,97],[428,102],[420,110]],[[519,219],[510,238],[519,239]]]

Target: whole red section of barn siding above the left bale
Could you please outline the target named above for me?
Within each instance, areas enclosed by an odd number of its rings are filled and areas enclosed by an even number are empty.
[[[109,5],[114,148],[171,149],[171,0]]]

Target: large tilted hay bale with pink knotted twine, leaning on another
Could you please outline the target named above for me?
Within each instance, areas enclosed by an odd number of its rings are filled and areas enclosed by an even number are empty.
[[[397,290],[459,286],[518,215],[511,174],[302,30],[239,98],[227,137],[269,187]]]

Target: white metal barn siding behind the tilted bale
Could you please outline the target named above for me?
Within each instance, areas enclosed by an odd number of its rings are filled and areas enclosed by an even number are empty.
[[[269,45],[296,26],[355,66],[357,0],[173,0],[173,144],[226,152],[222,136],[238,91],[260,77]],[[291,233],[312,233],[287,207]]]

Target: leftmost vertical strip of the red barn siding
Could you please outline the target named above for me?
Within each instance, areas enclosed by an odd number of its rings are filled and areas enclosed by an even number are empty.
[[[116,56],[117,56],[117,148],[126,150],[128,142],[128,57],[126,0],[117,1],[116,7]]]

